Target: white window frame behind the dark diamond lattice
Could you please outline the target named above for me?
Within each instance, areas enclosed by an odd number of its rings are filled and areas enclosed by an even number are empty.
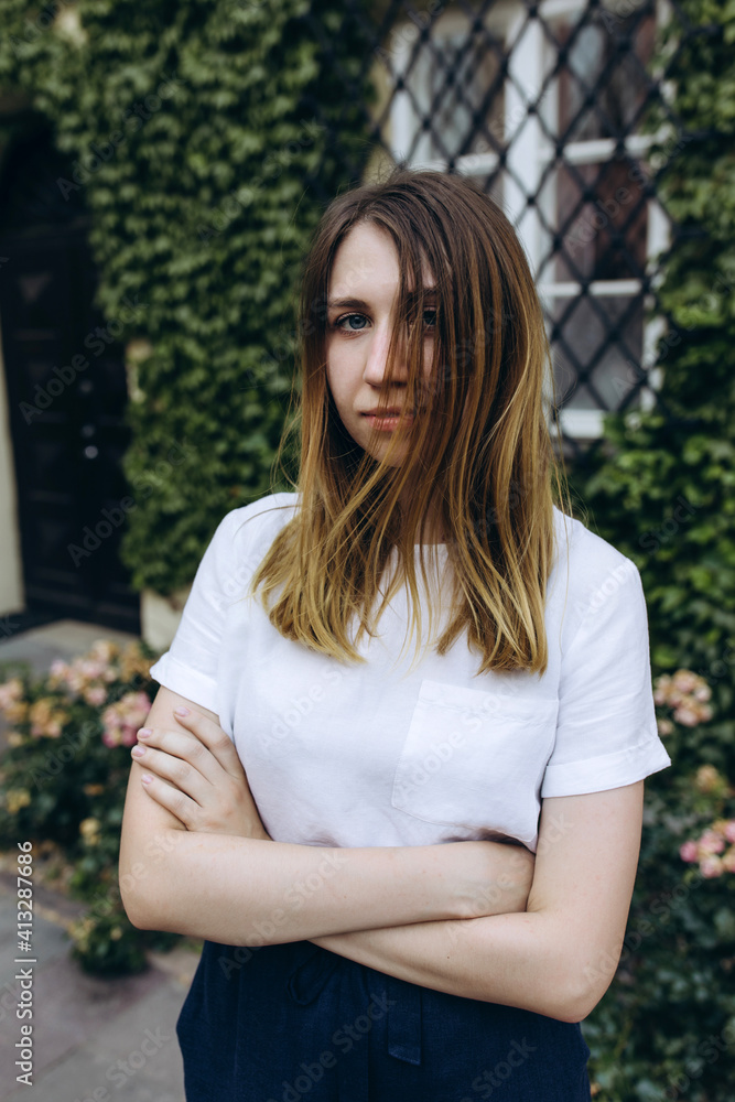
[[[633,0],[630,0],[633,2]],[[553,30],[553,24],[559,21],[573,22],[574,17],[582,17],[586,11],[586,0],[542,0],[539,4],[539,14]],[[635,9],[631,8],[631,13]],[[614,11],[614,9],[612,9]],[[657,0],[656,19],[657,24],[670,18],[671,8],[668,0]],[[509,141],[517,134],[509,145],[507,164],[512,170],[512,175],[504,175],[504,207],[506,214],[511,219],[521,239],[528,256],[531,271],[536,274],[542,257],[548,253],[548,234],[543,228],[536,206],[529,207],[527,196],[538,193],[541,176],[544,168],[554,160],[555,150],[545,137],[539,122],[538,114],[528,115],[528,106],[539,99],[540,86],[533,87],[530,78],[533,74],[547,72],[549,62],[549,50],[553,48],[538,20],[533,20],[526,28],[526,31],[518,42],[516,40],[526,23],[528,13],[525,6],[519,0],[510,0],[507,3],[493,6],[486,15],[486,26],[497,35],[505,35],[505,41],[512,46],[509,55],[509,74],[512,80],[507,80],[505,86],[505,139]],[[436,19],[431,29],[433,40],[441,40],[442,35],[456,33],[466,30],[468,24],[464,12],[456,9],[445,9]],[[410,21],[397,25],[392,32],[390,60],[396,76],[406,77],[411,56],[415,50],[415,41],[419,29]],[[411,74],[407,77],[410,84],[415,80],[415,64]],[[522,89],[522,93],[519,90]],[[412,87],[413,95],[421,99],[421,89]],[[423,97],[425,99],[425,96]],[[542,114],[543,122],[550,133],[558,132],[558,99],[554,95],[545,95],[538,105],[538,111]],[[629,134],[624,149],[631,158],[640,158],[647,153],[650,147],[658,141],[664,141],[668,132],[656,134]],[[391,150],[394,161],[406,161],[414,169],[434,169],[446,171],[446,161],[421,159],[420,139],[417,143],[417,153],[408,160],[408,152],[412,148],[417,137],[415,112],[411,105],[408,91],[398,89],[393,96],[389,116],[389,127],[387,143]],[[616,151],[616,142],[612,138],[595,139],[590,141],[571,142],[564,147],[564,160],[570,164],[591,165],[599,164],[609,160]],[[455,171],[467,175],[487,175],[498,165],[498,155],[494,151],[486,153],[475,153],[457,158],[454,162]],[[522,181],[528,187],[528,193],[518,184]],[[555,219],[555,192],[554,187],[544,187],[543,195],[544,217],[548,225],[553,225]],[[657,257],[668,249],[670,244],[669,222],[663,214],[656,197],[647,201],[647,267],[651,279],[651,287],[659,285],[662,276],[656,272]],[[587,294],[596,298],[625,298],[640,293],[642,283],[639,279],[619,280],[594,280],[587,287]],[[537,283],[539,296],[547,314],[550,306],[560,299],[569,299],[580,294],[582,287],[577,281],[569,280],[563,282],[543,281]],[[646,313],[653,305],[653,295],[649,291],[644,300],[642,306]],[[656,361],[656,349],[658,339],[663,331],[661,318],[648,317],[644,322],[644,337],[641,348],[641,365],[653,365]],[[649,371],[647,385],[640,390],[641,409],[651,409],[656,404],[655,390],[660,387],[661,371],[659,368]],[[594,440],[602,435],[604,410],[562,409],[560,411],[561,428],[565,435],[575,440]]]

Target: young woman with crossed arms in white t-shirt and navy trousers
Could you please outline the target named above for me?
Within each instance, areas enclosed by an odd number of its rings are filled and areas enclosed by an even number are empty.
[[[186,1098],[581,1102],[670,760],[638,572],[553,504],[522,248],[397,169],[300,336],[296,490],[220,522],[132,750],[126,908],[205,939]]]

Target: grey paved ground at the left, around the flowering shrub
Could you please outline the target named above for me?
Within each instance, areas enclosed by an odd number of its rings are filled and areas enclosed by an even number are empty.
[[[48,669],[54,658],[83,653],[95,639],[132,638],[64,620],[0,642],[2,663],[28,659]],[[0,747],[1,748],[1,747]],[[22,1022],[15,1016],[22,964],[15,964],[15,883],[0,869],[0,1102],[184,1102],[175,1024],[197,954],[179,948],[151,957],[149,971],[101,980],[69,955],[66,925],[79,904],[36,885],[33,946],[33,1084],[18,1083]],[[29,965],[25,965],[26,968]],[[22,1019],[28,1022],[29,1019]]]

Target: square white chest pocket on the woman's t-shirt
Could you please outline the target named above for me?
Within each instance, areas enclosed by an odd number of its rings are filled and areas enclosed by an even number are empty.
[[[422,681],[391,804],[432,823],[530,840],[558,700]]]

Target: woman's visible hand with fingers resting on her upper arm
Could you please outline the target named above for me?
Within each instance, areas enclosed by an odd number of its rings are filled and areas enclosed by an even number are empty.
[[[237,750],[221,727],[193,711],[176,719],[186,732],[161,727],[138,732],[130,753],[151,776],[144,790],[186,830],[272,841]],[[149,735],[143,734],[147,730]]]

